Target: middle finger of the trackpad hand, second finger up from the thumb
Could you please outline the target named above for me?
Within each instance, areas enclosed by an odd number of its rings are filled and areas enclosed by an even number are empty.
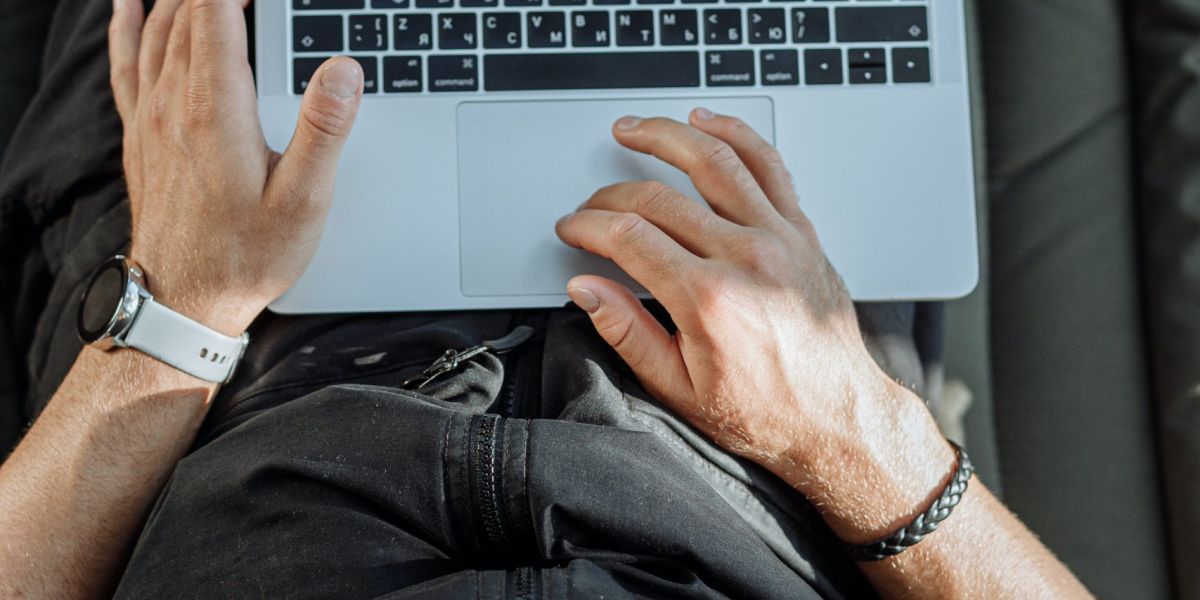
[[[719,253],[731,238],[746,230],[659,181],[611,185],[580,208],[636,212],[702,258]]]

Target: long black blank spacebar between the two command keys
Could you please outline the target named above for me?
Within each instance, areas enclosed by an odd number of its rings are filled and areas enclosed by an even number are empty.
[[[484,56],[484,89],[488,91],[698,86],[697,52]]]

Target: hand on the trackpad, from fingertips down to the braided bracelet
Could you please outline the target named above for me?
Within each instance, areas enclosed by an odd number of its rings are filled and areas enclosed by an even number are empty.
[[[779,152],[702,109],[690,125],[625,118],[613,134],[688,173],[708,202],[625,182],[558,224],[566,244],[616,260],[678,326],[668,335],[611,280],[568,284],[647,391],[799,487],[847,536],[922,505],[954,456],[919,398],[868,353]],[[877,514],[854,512],[870,506]]]

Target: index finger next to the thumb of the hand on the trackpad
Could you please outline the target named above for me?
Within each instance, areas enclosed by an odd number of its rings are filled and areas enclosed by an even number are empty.
[[[617,263],[672,314],[689,296],[684,282],[703,266],[700,257],[634,212],[583,209],[563,217],[556,232],[566,245]]]

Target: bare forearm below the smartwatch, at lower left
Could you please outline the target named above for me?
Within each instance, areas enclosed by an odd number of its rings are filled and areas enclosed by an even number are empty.
[[[0,596],[107,595],[215,385],[85,348],[0,467]]]

